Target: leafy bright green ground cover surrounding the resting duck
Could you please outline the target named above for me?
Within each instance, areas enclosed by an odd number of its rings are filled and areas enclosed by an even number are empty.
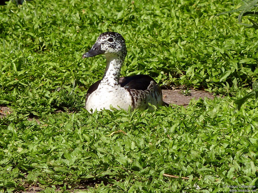
[[[239,111],[234,103],[258,79],[257,33],[237,25],[237,13],[215,16],[237,7],[77,0],[0,6],[0,106],[13,111],[0,119],[0,192],[34,185],[69,192],[81,184],[86,192],[258,187],[258,103],[249,98]],[[126,40],[122,75],[149,74],[164,87],[224,98],[193,100],[186,109],[89,114],[85,92],[102,78],[105,61],[81,57],[105,31]],[[108,136],[118,130],[126,134]]]

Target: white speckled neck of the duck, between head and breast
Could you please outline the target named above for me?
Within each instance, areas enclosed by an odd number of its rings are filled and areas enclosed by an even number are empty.
[[[106,70],[103,75],[101,84],[117,86],[119,84],[120,70],[124,62],[124,59],[115,55],[112,55],[112,56],[109,55],[106,57],[107,57],[107,66],[106,66]]]

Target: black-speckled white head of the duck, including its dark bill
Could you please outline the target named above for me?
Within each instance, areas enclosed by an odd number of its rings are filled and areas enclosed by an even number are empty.
[[[107,57],[115,56],[124,59],[127,52],[125,40],[117,32],[104,32],[100,34],[92,48],[83,54],[82,58],[104,54]]]

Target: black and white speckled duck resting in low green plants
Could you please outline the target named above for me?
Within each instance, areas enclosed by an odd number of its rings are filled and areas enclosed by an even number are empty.
[[[148,75],[120,77],[121,66],[127,55],[125,40],[117,32],[100,34],[92,48],[82,58],[104,54],[107,66],[103,78],[90,86],[86,94],[85,108],[90,112],[110,109],[128,110],[149,108],[148,103],[168,105],[162,101],[162,91],[157,82]]]

